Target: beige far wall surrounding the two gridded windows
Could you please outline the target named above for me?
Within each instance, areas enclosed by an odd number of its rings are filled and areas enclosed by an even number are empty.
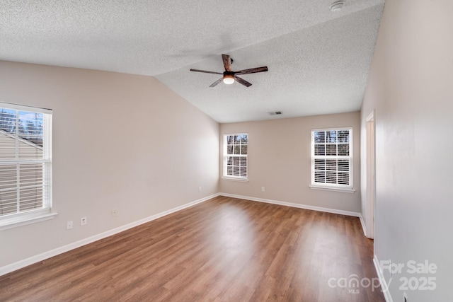
[[[311,129],[330,127],[352,127],[353,187],[357,190],[353,194],[309,188]],[[223,134],[236,132],[248,133],[249,182],[221,179],[220,192],[360,212],[360,112],[220,124],[221,151]],[[222,167],[219,172],[222,175]]]

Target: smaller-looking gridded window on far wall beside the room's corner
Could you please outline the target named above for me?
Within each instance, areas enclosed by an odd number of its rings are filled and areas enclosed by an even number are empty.
[[[224,135],[224,178],[247,180],[247,144],[248,135]]]

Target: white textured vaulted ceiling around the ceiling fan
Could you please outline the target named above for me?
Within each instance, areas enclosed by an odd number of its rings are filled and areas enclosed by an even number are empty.
[[[0,59],[156,76],[218,122],[360,110],[384,0],[331,3],[0,1]],[[222,72],[222,53],[269,71],[249,88],[189,71]]]

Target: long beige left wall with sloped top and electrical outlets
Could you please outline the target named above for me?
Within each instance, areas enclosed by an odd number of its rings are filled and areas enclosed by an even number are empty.
[[[0,62],[0,101],[53,109],[58,212],[0,231],[0,268],[219,191],[219,124],[152,77]]]

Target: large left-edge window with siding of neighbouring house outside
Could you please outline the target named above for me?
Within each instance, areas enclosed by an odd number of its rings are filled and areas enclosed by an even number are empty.
[[[51,124],[51,110],[0,103],[2,228],[55,215],[50,214]]]

